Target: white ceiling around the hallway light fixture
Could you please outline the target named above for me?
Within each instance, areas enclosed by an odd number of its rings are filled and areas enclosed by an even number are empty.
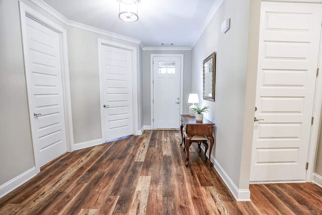
[[[118,0],[42,0],[69,21],[141,41],[142,47],[190,47],[213,16],[218,0],[141,0],[139,19],[118,18]],[[161,43],[166,43],[161,45]]]

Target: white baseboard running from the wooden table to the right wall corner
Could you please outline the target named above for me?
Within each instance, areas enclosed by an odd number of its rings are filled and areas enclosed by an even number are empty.
[[[214,159],[214,157],[211,155],[211,161],[214,164],[214,167],[228,189],[230,190],[233,197],[236,199],[236,201],[251,201],[251,191],[249,189],[238,189],[237,186],[233,183],[231,178],[227,175],[227,173],[224,171],[224,169],[220,166],[218,161]]]

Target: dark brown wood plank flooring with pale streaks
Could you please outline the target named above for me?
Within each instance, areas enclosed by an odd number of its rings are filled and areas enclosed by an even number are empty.
[[[177,130],[145,130],[66,153],[0,199],[0,214],[322,214],[311,183],[251,185],[237,202],[197,144],[190,164]]]

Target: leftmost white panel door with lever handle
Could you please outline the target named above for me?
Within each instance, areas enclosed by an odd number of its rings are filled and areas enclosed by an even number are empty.
[[[40,167],[67,151],[59,34],[26,18],[28,62],[26,62],[32,131]],[[25,42],[25,41],[24,41]]]

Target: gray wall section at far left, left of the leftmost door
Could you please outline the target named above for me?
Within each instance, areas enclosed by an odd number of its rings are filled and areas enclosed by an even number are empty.
[[[34,167],[18,1],[0,1],[0,185]]]

